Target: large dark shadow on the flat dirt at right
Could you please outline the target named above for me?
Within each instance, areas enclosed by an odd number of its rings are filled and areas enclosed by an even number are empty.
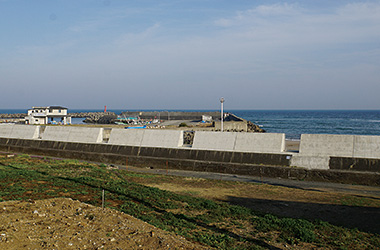
[[[380,234],[380,208],[293,201],[265,200],[229,196],[228,202],[257,212],[283,217],[327,221],[333,225],[358,228]]]

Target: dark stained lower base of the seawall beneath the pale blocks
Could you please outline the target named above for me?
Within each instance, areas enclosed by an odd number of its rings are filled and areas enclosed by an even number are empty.
[[[0,138],[0,150],[109,164],[380,186],[369,172],[290,167],[291,155]]]

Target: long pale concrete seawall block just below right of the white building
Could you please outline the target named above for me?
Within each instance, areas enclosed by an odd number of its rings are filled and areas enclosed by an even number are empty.
[[[103,141],[103,128],[47,126],[42,140],[100,143]]]

